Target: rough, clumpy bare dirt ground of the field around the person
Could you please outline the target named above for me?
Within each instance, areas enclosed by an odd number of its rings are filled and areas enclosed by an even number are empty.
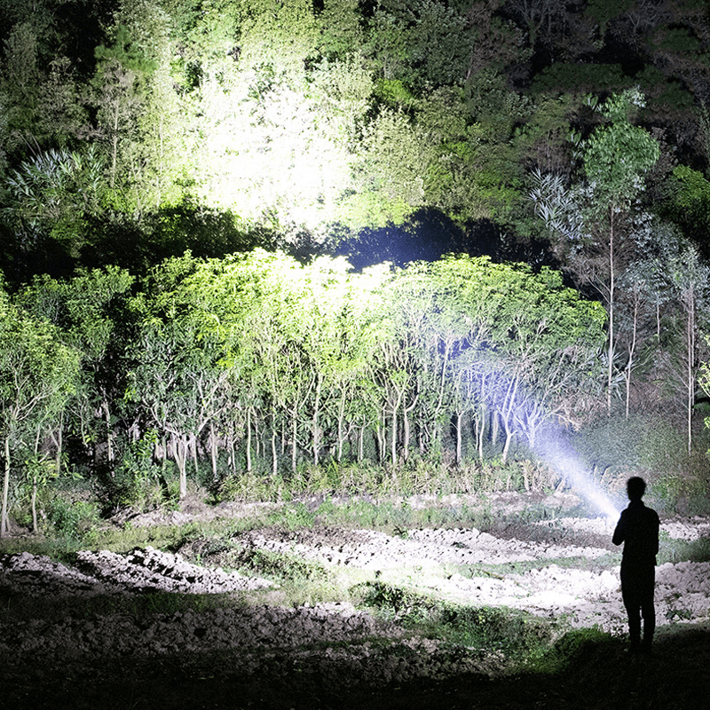
[[[28,553],[0,555],[0,609],[12,610],[20,597],[43,600],[44,609],[48,600],[57,608],[62,600],[89,604],[99,596],[123,602],[118,613],[21,620],[0,614],[0,696],[6,707],[28,708],[702,706],[706,682],[698,669],[710,661],[710,563],[659,565],[654,655],[628,658],[612,524],[565,515],[573,502],[550,500],[552,517],[525,523],[515,516],[525,497],[501,496],[486,532],[279,526],[235,533],[233,540],[242,560],[286,556],[334,579],[343,573],[411,588],[440,604],[504,606],[564,619],[565,628],[611,632],[611,641],[580,647],[565,672],[506,675],[496,651],[457,651],[350,602],[280,605],[278,584],[267,573],[225,572],[238,566],[229,551],[193,540],[178,553],[84,550],[70,565]],[[133,517],[131,525],[245,512],[195,505]],[[661,530],[663,540],[692,543],[710,535],[710,520],[662,520]],[[158,592],[262,596],[257,604],[198,611],[126,611],[127,597]]]

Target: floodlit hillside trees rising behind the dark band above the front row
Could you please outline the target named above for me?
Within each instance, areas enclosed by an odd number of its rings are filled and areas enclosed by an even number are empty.
[[[106,223],[149,240],[155,216],[177,206],[270,230],[284,248],[303,235],[327,248],[363,229],[406,228],[422,209],[466,232],[490,221],[529,239],[531,169],[579,170],[568,138],[594,127],[587,94],[633,86],[647,99],[644,127],[696,169],[707,160],[710,75],[695,5],[645,24],[635,3],[612,5],[11,3],[0,63],[4,258],[23,270],[28,253],[55,245],[98,265],[114,258]],[[580,23],[602,43],[576,36]],[[696,38],[697,60],[679,32]],[[619,41],[647,67],[619,65],[618,85],[600,75],[572,90],[550,74],[561,62],[575,75],[606,66]],[[59,225],[40,225],[36,200],[50,197]]]

